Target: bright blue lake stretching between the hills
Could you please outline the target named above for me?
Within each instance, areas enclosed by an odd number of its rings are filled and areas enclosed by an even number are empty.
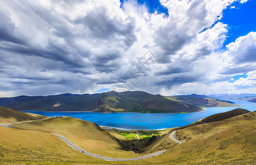
[[[256,111],[256,103],[233,101],[248,111]],[[44,116],[69,116],[87,120],[97,125],[126,129],[163,129],[182,127],[212,114],[227,112],[237,107],[212,107],[194,113],[96,113],[96,112],[43,112],[25,111]]]

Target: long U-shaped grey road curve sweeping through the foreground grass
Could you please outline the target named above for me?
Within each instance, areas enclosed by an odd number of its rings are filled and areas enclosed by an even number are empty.
[[[141,159],[148,158],[148,157],[151,157],[151,156],[156,156],[156,155],[159,155],[159,154],[164,153],[165,151],[167,151],[167,150],[159,151],[159,152],[151,153],[149,155],[145,155],[145,156],[141,156],[141,157],[135,157],[135,158],[109,158],[109,157],[103,157],[103,156],[100,156],[100,155],[95,155],[94,153],[90,153],[90,152],[81,150],[77,146],[73,145],[70,141],[68,141],[63,136],[56,135],[56,134],[53,134],[53,135],[58,136],[58,138],[61,138],[64,142],[66,142],[73,149],[75,149],[75,150],[77,150],[81,153],[84,153],[86,155],[93,156],[93,157],[96,157],[96,158],[100,158],[100,159],[105,160],[105,161],[136,161],[136,160],[141,160]]]

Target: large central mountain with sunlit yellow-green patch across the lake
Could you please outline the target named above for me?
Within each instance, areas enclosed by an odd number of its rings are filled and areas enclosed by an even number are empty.
[[[200,107],[169,100],[161,95],[143,91],[105,92],[94,97],[68,102],[49,111],[92,111],[92,112],[141,112],[141,113],[182,113],[203,111]]]

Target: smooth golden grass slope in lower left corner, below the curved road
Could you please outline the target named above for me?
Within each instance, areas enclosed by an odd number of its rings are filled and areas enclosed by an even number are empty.
[[[113,164],[72,149],[57,136],[0,127],[0,164]]]

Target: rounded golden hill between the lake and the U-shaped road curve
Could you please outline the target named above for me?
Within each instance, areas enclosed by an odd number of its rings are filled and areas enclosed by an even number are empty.
[[[13,128],[59,134],[85,151],[103,156],[134,157],[129,144],[119,141],[97,124],[72,117],[13,124]]]

